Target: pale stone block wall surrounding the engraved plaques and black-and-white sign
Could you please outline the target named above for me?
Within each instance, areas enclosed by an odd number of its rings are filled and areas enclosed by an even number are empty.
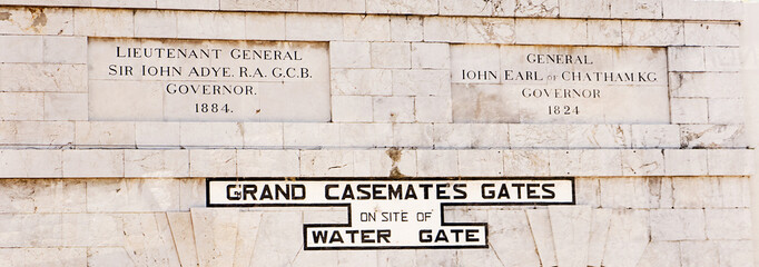
[[[0,266],[751,266],[741,11],[686,0],[0,0]],[[254,100],[262,115],[194,117],[140,95],[147,79],[99,83],[95,43],[139,39],[317,43],[326,55],[312,71],[328,80],[267,80],[282,95]],[[555,118],[533,113],[544,102],[510,102],[503,77],[457,78],[499,58],[501,71],[504,51],[523,46],[661,49],[661,62],[615,65],[664,71],[666,96],[613,95],[593,116]],[[487,249],[304,250],[303,225],[345,222],[345,209],[207,208],[207,177],[574,177],[575,205],[445,210],[487,222]]]

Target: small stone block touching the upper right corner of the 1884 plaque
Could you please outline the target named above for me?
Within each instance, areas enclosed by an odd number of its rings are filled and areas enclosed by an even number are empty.
[[[372,53],[368,42],[329,42],[329,66],[332,68],[369,68]]]

